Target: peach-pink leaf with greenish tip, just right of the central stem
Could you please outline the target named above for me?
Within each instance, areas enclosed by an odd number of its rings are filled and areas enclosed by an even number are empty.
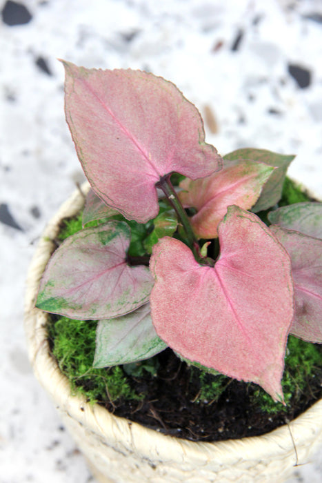
[[[191,218],[197,237],[217,238],[217,227],[227,207],[236,204],[245,210],[251,208],[273,171],[267,164],[224,158],[221,171],[197,181],[188,178],[181,181],[181,203],[185,208],[197,208],[196,215]]]

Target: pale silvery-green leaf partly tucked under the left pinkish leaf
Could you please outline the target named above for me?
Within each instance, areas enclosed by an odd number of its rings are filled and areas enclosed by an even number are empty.
[[[167,347],[152,324],[150,304],[97,324],[94,367],[117,366],[148,359]]]

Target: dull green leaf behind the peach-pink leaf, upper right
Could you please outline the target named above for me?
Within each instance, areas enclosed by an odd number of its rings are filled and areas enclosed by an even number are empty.
[[[265,149],[245,148],[230,152],[225,155],[224,159],[252,159],[252,161],[259,161],[276,168],[263,187],[259,200],[252,208],[252,211],[257,213],[271,208],[281,199],[285,174],[294,157],[293,155],[279,155]]]

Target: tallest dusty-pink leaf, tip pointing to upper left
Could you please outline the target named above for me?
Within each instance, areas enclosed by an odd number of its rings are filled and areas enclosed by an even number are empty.
[[[173,83],[139,70],[63,64],[66,119],[85,175],[127,219],[157,216],[155,184],[170,172],[197,179],[221,168],[197,108]]]

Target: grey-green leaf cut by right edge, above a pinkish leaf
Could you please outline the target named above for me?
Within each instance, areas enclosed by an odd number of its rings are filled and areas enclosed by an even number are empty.
[[[268,213],[274,225],[322,238],[322,203],[294,203]]]

